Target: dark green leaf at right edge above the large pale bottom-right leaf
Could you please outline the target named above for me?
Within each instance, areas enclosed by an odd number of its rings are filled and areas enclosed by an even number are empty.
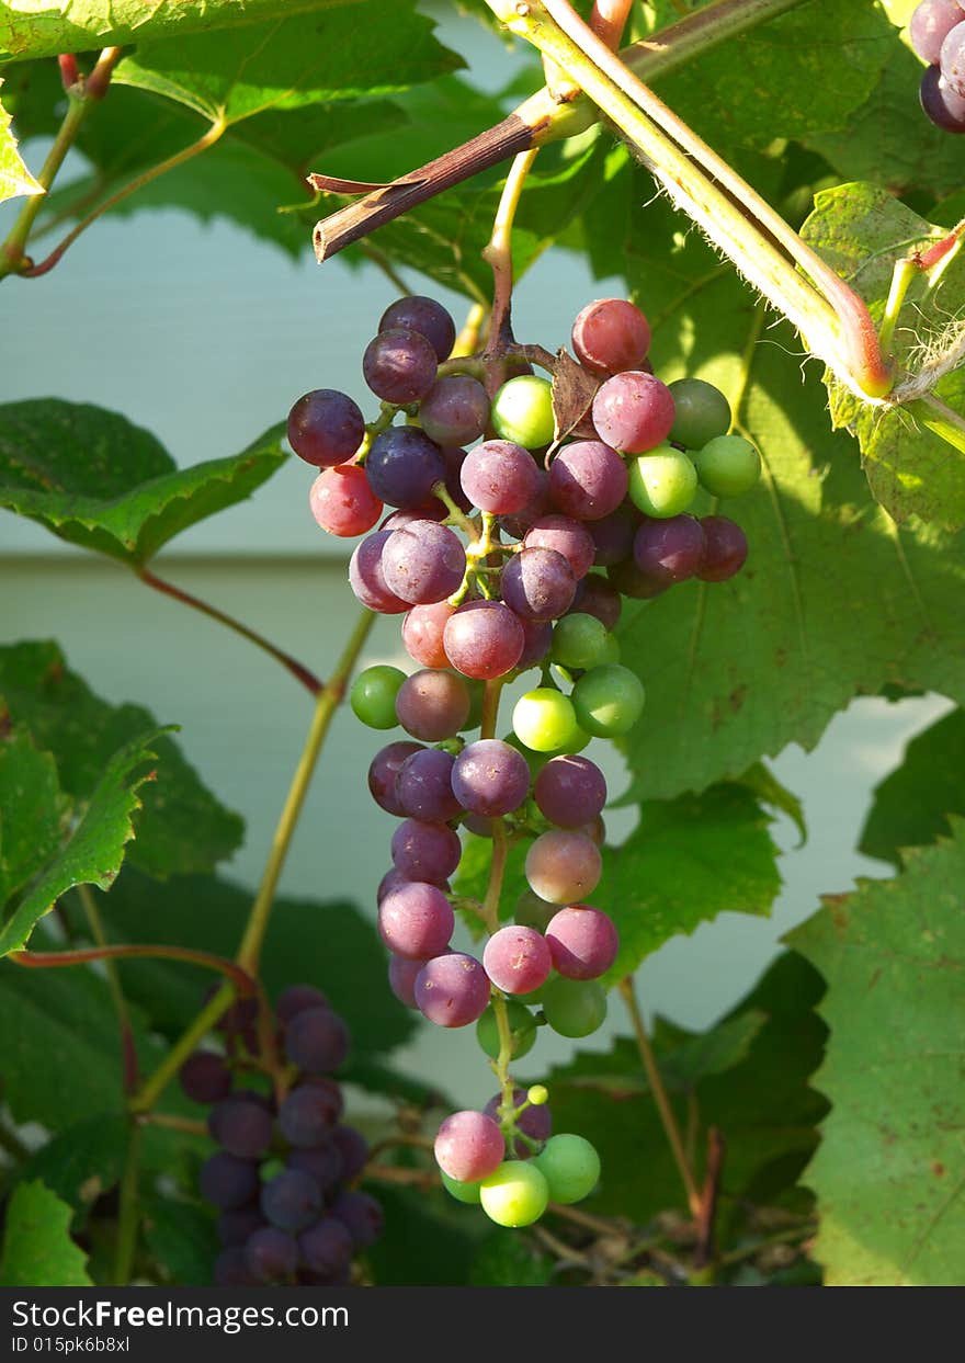
[[[916,735],[895,767],[875,786],[859,851],[901,866],[902,848],[928,846],[965,816],[965,713],[953,710]]]

